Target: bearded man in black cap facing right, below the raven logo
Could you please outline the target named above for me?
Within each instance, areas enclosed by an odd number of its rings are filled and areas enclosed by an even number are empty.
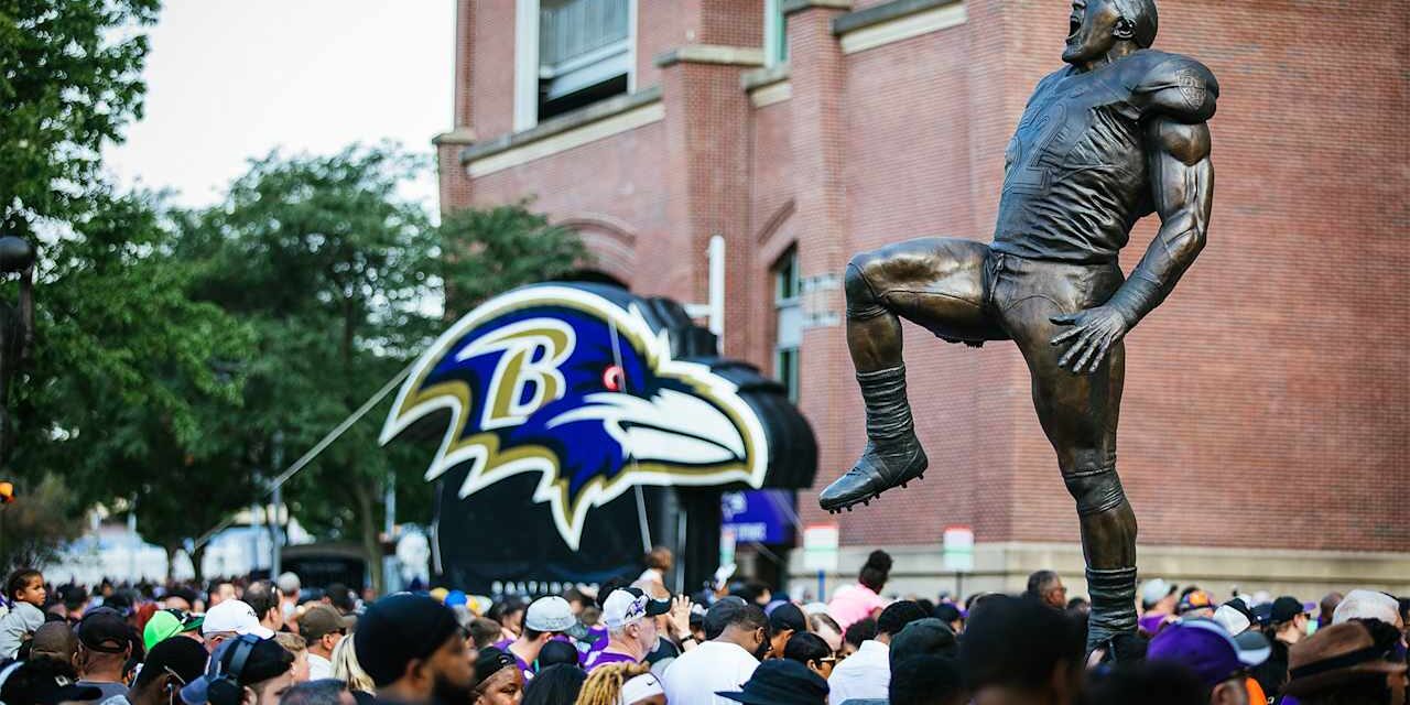
[[[475,671],[460,623],[434,598],[388,595],[367,608],[351,639],[378,699],[405,705],[472,699]]]

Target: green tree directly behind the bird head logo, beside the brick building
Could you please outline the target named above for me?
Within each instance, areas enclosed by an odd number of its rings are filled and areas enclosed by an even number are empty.
[[[192,214],[180,250],[204,262],[196,292],[248,323],[259,352],[247,369],[241,427],[268,467],[283,431],[286,461],[403,369],[444,329],[444,289],[467,305],[571,271],[575,234],[525,204],[448,214],[433,227],[402,199],[423,159],[391,147],[255,161],[224,203]],[[450,252],[450,254],[447,254]],[[362,546],[381,588],[382,496],[395,477],[399,515],[430,517],[427,451],[376,443],[391,399],[285,485],[316,536]]]

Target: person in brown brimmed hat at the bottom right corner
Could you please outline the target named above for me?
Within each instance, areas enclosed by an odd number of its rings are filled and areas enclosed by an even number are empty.
[[[1301,705],[1406,705],[1406,661],[1396,654],[1399,639],[1394,626],[1375,619],[1318,629],[1290,649],[1283,695]]]

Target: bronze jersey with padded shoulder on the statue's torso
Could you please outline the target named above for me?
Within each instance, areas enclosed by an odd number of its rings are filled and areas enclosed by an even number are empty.
[[[1218,83],[1194,59],[1141,49],[1038,83],[1004,155],[997,252],[1110,262],[1153,210],[1148,118],[1203,123]]]

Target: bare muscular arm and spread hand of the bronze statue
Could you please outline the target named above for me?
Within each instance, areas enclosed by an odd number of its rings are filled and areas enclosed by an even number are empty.
[[[1058,364],[1072,372],[1094,372],[1107,350],[1169,296],[1204,250],[1214,202],[1208,125],[1158,117],[1146,128],[1146,149],[1160,231],[1105,305],[1052,319],[1073,326],[1052,341],[1053,345],[1070,343]]]

